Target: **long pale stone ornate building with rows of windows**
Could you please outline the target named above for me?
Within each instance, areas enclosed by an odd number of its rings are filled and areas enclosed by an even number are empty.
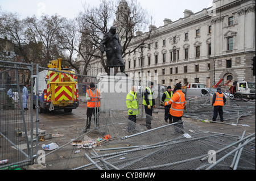
[[[121,2],[123,3],[124,0]],[[255,1],[213,0],[213,6],[193,13],[184,11],[184,18],[175,22],[164,19],[164,26],[154,27],[152,39],[142,52],[123,58],[130,77],[158,73],[158,83],[174,86],[181,81],[213,85],[224,79],[254,81],[251,59],[255,56]],[[139,33],[130,47],[138,44],[145,33]],[[129,51],[129,49],[128,49]],[[141,57],[143,65],[141,66]],[[102,70],[94,60],[88,71],[96,76]]]

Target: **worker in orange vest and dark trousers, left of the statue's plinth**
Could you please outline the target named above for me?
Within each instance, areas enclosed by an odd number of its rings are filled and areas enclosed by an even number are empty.
[[[92,116],[94,117],[94,125],[96,128],[99,127],[98,116],[100,113],[100,90],[96,89],[94,83],[90,83],[90,89],[86,91],[86,101],[87,101],[87,121],[86,128],[84,132],[87,132],[87,129],[90,129],[90,123],[92,122]]]

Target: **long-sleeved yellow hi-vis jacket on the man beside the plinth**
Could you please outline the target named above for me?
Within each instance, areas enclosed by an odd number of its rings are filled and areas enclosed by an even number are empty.
[[[126,96],[126,106],[128,109],[128,115],[139,114],[139,103],[136,94],[137,93],[131,90]]]

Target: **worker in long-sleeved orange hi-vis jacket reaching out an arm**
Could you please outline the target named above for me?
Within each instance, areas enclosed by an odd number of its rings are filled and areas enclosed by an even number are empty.
[[[185,95],[181,91],[181,85],[176,85],[175,88],[176,88],[176,91],[172,96],[171,100],[169,100],[168,102],[165,102],[164,106],[171,105],[170,114],[172,115],[173,123],[180,121],[180,123],[174,125],[175,132],[184,134],[181,117],[183,115],[183,111],[186,106]]]

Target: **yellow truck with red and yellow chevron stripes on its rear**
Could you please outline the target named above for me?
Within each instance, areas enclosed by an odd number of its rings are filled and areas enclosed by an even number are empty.
[[[48,69],[39,72],[39,113],[53,110],[72,112],[73,109],[79,106],[79,92],[75,72],[74,69],[62,68],[61,58],[50,61]],[[35,107],[36,83],[33,88],[33,107]]]

